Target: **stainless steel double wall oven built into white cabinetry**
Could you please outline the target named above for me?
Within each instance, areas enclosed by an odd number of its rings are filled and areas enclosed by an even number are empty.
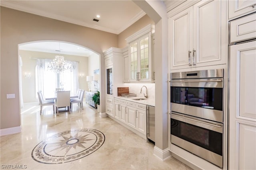
[[[223,168],[223,69],[171,74],[171,143]]]

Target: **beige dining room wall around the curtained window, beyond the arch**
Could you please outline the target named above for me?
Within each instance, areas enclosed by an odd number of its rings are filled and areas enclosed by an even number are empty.
[[[36,59],[54,59],[54,53],[44,53],[37,51],[24,51],[20,50],[19,55],[22,57],[22,94],[23,94],[23,102],[38,102],[36,98],[36,79],[35,79],[35,68],[36,68]],[[74,55],[62,55],[65,60],[68,61],[77,61],[78,62],[78,73],[84,74],[84,77],[79,77],[79,88],[88,90],[88,84],[86,82],[86,76],[88,75],[88,58],[82,56],[74,56]],[[95,56],[98,58],[97,56]],[[31,59],[34,58],[34,59]],[[99,61],[97,61],[97,66],[99,67]],[[30,72],[31,77],[25,77],[25,72]]]

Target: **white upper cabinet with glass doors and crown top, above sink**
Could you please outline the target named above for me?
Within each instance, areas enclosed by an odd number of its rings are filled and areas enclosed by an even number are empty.
[[[154,82],[152,66],[152,31],[148,25],[126,39],[129,56],[128,82]]]

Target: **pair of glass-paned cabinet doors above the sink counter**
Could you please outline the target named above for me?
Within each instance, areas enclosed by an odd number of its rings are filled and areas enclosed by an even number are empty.
[[[147,34],[129,45],[130,81],[150,80],[151,35]]]

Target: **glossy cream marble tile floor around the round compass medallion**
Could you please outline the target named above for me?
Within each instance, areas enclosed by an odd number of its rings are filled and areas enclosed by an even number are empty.
[[[154,145],[152,143],[147,143],[145,139],[109,117],[100,118],[97,109],[85,103],[84,110],[78,109],[74,104],[71,114],[60,112],[59,116],[55,116],[52,113],[52,106],[44,106],[41,116],[39,112],[40,106],[25,104],[21,111],[22,132],[0,137],[1,169],[4,169],[6,165],[12,165],[12,168],[20,166],[20,168],[26,167],[28,170],[191,170],[172,157],[165,161],[160,160],[153,155]],[[81,129],[95,129],[99,131],[99,133],[96,132],[97,134],[103,133],[104,141],[100,144],[101,146],[96,150],[92,149],[90,154],[82,158],[65,163],[48,164],[49,161],[46,159],[42,159],[44,163],[41,163],[32,158],[36,157],[32,150],[35,151],[34,148],[38,144],[48,141],[56,134],[64,134],[68,138],[70,131],[80,131]],[[65,141],[67,145],[72,144],[69,145],[72,147],[68,150],[70,155],[75,155],[83,148],[94,145],[92,140],[98,139],[98,136],[94,137],[94,134],[87,136],[85,133],[87,132],[79,132],[80,138],[77,136],[76,139]],[[74,135],[72,134],[72,136]],[[66,139],[66,137],[61,139]],[[79,145],[74,147],[75,143]],[[54,148],[54,154],[61,155],[66,149],[60,149],[60,146],[64,144],[54,143],[52,145],[53,148],[54,145],[59,147]],[[47,150],[45,145],[44,149]],[[48,149],[48,153],[51,152],[53,151]]]

